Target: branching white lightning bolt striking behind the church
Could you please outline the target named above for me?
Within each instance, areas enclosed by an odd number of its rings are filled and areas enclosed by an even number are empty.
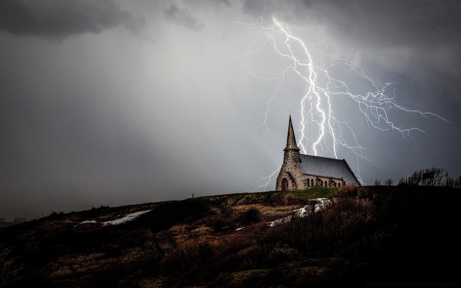
[[[264,6],[264,10],[265,8]],[[288,25],[279,23],[276,19],[272,19],[273,28],[269,27],[269,23],[266,23],[262,16],[264,10],[255,24],[242,23],[240,21],[234,22],[248,29],[256,30],[256,34],[247,52],[242,57],[233,57],[235,59],[245,60],[246,69],[244,82],[248,83],[248,77],[250,76],[258,81],[277,82],[272,97],[267,104],[264,122],[260,123],[256,128],[264,127],[266,130],[265,134],[261,135],[261,137],[269,133],[266,121],[271,109],[271,102],[277,96],[279,87],[285,83],[285,76],[289,71],[295,72],[295,75],[299,76],[305,83],[305,91],[303,94],[300,94],[301,122],[298,128],[298,131],[301,132],[298,137],[298,146],[301,148],[302,153],[315,156],[334,157],[337,159],[338,147],[349,149],[349,151],[356,156],[356,176],[363,184],[366,183],[362,181],[360,176],[359,160],[365,159],[371,162],[372,160],[364,156],[364,150],[366,148],[359,144],[357,136],[350,125],[345,121],[340,121],[335,116],[334,109],[336,108],[333,108],[334,101],[344,97],[352,99],[357,105],[357,112],[363,115],[368,127],[371,126],[382,131],[396,129],[401,132],[404,137],[411,137],[410,132],[413,130],[420,132],[425,131],[416,127],[405,128],[395,124],[394,121],[390,119],[390,110],[417,113],[425,118],[427,118],[427,116],[434,116],[445,122],[449,122],[437,114],[420,112],[419,110],[409,109],[397,104],[394,90],[391,90],[391,97],[386,96],[388,93],[387,90],[390,89],[392,83],[386,83],[383,88],[378,88],[375,82],[364,74],[361,66],[354,65],[354,63],[348,59],[336,58],[333,55],[320,51],[318,48],[319,44],[329,39],[325,39],[316,44],[305,44],[304,41],[291,33]],[[260,31],[262,31],[262,33],[258,33]],[[258,35],[260,34],[263,34],[264,37],[262,41],[258,41]],[[262,44],[257,45],[258,42],[262,42]],[[289,63],[283,69],[279,77],[259,76],[253,72],[250,66],[253,55],[269,45],[273,47],[281,57],[287,59]],[[355,73],[359,79],[367,82],[372,91],[366,94],[352,92],[354,89],[349,88],[346,81],[332,76],[332,74],[334,74],[334,69],[338,67],[347,68],[348,72]],[[345,139],[348,139],[348,141]],[[257,185],[260,181],[265,179],[267,182],[253,191],[265,189],[271,177],[277,171],[272,172],[271,176],[264,178],[260,177]]]

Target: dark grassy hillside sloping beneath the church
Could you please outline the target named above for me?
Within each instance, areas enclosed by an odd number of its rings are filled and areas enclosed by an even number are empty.
[[[131,287],[455,282],[460,192],[311,188],[53,215],[0,229],[0,287],[115,288],[128,275]],[[318,212],[266,224],[321,197],[330,202]],[[146,210],[151,211],[129,223],[102,224]],[[85,220],[96,223],[80,223]],[[162,261],[155,235],[163,230],[172,249]]]

